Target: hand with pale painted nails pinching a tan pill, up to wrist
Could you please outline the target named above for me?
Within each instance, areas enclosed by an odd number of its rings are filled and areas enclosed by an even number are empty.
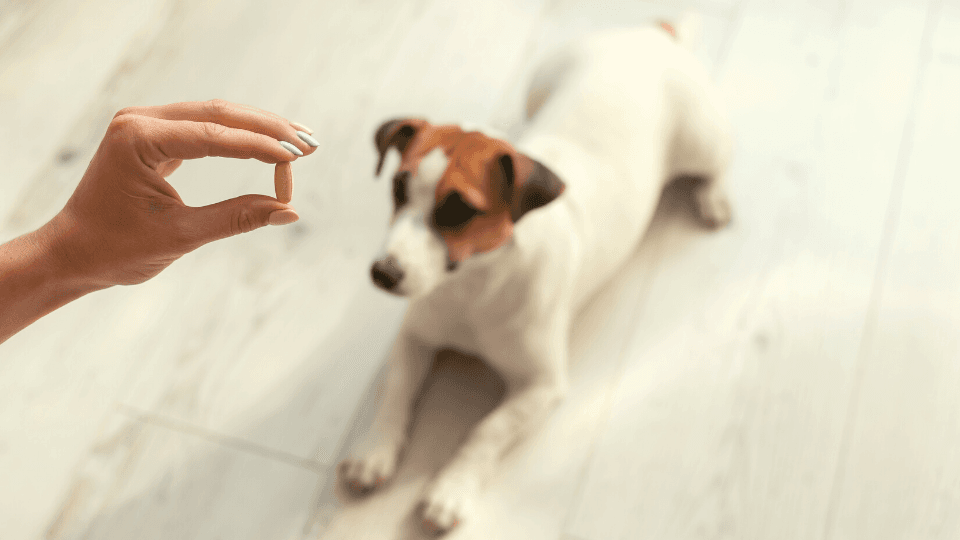
[[[288,120],[221,100],[123,109],[48,224],[51,249],[66,270],[99,289],[142,283],[208,242],[292,223],[298,216],[286,203],[297,156],[279,141],[303,155],[314,150]],[[184,159],[207,156],[277,164],[278,198],[243,195],[188,207],[165,178]]]

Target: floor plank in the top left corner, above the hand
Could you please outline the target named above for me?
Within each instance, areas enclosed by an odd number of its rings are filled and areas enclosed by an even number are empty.
[[[152,40],[168,3],[41,0],[2,6],[0,223],[17,208],[26,183],[59,159],[64,149],[58,143],[72,135],[69,128],[124,57]]]

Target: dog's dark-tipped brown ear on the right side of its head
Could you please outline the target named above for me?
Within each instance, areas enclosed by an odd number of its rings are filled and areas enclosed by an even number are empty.
[[[530,173],[526,180],[518,187],[517,167],[509,154],[501,154],[494,160],[493,171],[495,184],[501,186],[503,200],[510,206],[510,218],[514,223],[520,221],[527,212],[545,206],[560,196],[566,189],[566,184],[539,161],[521,156],[520,159],[529,161]]]

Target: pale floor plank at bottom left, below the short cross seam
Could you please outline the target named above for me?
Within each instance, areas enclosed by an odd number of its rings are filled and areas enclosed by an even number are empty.
[[[115,412],[77,476],[44,538],[289,538],[317,471]]]

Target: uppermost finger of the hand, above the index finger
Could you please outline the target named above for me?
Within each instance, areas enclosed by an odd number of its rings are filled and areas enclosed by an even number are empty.
[[[121,115],[146,116],[161,120],[210,122],[228,128],[243,129],[289,143],[302,155],[313,153],[318,145],[316,140],[310,137],[308,133],[303,132],[303,135],[299,135],[297,131],[302,132],[303,130],[298,130],[289,120],[278,114],[220,99],[171,103],[152,107],[128,107],[117,113],[117,117]],[[297,126],[303,127],[299,124]]]

